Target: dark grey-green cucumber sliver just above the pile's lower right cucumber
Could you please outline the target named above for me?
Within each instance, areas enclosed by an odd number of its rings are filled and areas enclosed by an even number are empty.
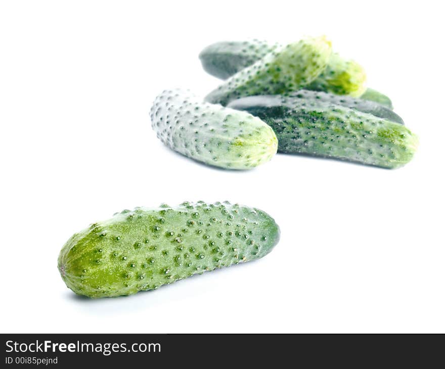
[[[303,100],[318,100],[325,103],[330,103],[333,105],[341,105],[347,108],[355,109],[361,111],[363,113],[369,113],[375,115],[379,118],[388,119],[395,123],[404,124],[403,119],[395,114],[392,110],[386,108],[385,106],[378,104],[374,101],[367,101],[362,99],[356,99],[349,96],[338,96],[334,94],[324,93],[322,91],[309,91],[309,90],[299,90],[295,93],[291,93],[287,95],[289,97],[288,102],[291,102],[291,98],[295,99],[303,99]],[[260,99],[261,97],[258,97]],[[280,97],[267,97],[264,96],[264,99],[280,99]],[[230,107],[230,104],[229,104]]]

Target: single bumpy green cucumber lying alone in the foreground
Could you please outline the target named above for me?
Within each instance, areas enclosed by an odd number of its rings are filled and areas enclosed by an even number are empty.
[[[279,238],[274,219],[259,209],[164,204],[124,210],[76,233],[63,246],[58,268],[76,294],[124,296],[261,258]]]

